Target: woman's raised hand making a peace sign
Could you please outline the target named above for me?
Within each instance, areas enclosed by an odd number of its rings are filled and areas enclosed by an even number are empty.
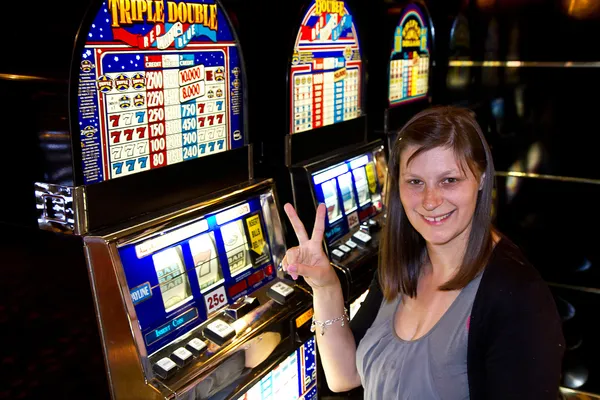
[[[298,279],[299,275],[303,276],[313,290],[339,285],[338,277],[323,251],[325,205],[319,204],[317,208],[315,225],[310,238],[294,207],[288,203],[283,209],[292,223],[299,243],[286,252],[283,258],[283,269],[294,279]]]

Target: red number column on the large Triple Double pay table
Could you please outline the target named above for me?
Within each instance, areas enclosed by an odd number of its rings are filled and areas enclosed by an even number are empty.
[[[161,56],[146,56],[146,103],[148,105],[148,132],[150,135],[150,168],[167,165],[165,129],[165,92],[163,60]]]

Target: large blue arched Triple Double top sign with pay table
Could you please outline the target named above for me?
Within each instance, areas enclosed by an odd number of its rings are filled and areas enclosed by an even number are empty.
[[[85,184],[244,145],[240,51],[215,0],[106,0],[80,35]]]

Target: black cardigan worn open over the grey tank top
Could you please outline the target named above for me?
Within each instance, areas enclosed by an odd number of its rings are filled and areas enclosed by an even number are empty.
[[[375,277],[350,326],[356,343],[383,300]],[[473,302],[467,349],[471,400],[556,400],[565,349],[556,303],[538,271],[503,238]]]

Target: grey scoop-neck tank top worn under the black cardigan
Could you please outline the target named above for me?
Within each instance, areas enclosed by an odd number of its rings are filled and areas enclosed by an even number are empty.
[[[460,400],[469,398],[468,321],[479,274],[458,294],[424,336],[402,340],[394,329],[400,296],[383,300],[356,351],[365,400]]]

